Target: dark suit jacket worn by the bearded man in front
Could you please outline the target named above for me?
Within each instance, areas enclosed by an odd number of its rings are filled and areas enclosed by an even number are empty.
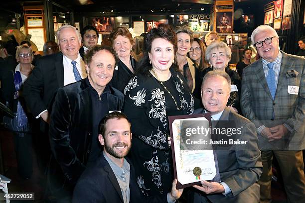
[[[131,165],[130,203],[167,203],[166,194],[144,197],[136,181],[134,167]],[[78,180],[73,193],[73,203],[124,203],[120,185],[103,154]]]

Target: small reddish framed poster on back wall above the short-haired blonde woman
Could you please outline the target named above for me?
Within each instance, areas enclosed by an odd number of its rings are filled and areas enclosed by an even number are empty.
[[[232,16],[233,12],[216,12],[216,32],[233,32]]]

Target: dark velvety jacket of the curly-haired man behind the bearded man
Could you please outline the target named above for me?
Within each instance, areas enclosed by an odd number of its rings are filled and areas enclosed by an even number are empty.
[[[92,102],[86,79],[58,90],[51,113],[49,177],[53,187],[70,184],[73,188],[82,174],[91,150]],[[124,95],[114,88],[107,93],[108,111],[121,110]],[[71,188],[70,187],[70,188]]]

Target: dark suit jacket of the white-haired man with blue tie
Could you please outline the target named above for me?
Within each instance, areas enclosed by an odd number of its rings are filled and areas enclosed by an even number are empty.
[[[63,86],[62,53],[41,57],[24,83],[23,96],[32,114],[36,117],[45,109],[50,113],[56,92]],[[46,123],[41,121],[40,128],[44,131]]]

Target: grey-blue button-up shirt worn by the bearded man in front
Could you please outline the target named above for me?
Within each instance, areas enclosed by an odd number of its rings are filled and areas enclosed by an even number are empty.
[[[130,164],[124,159],[123,167],[119,167],[116,163],[114,163],[105,152],[103,155],[107,162],[109,163],[113,173],[115,174],[121,192],[123,196],[124,203],[129,203],[130,201],[130,189],[129,189],[129,181],[130,181]]]

